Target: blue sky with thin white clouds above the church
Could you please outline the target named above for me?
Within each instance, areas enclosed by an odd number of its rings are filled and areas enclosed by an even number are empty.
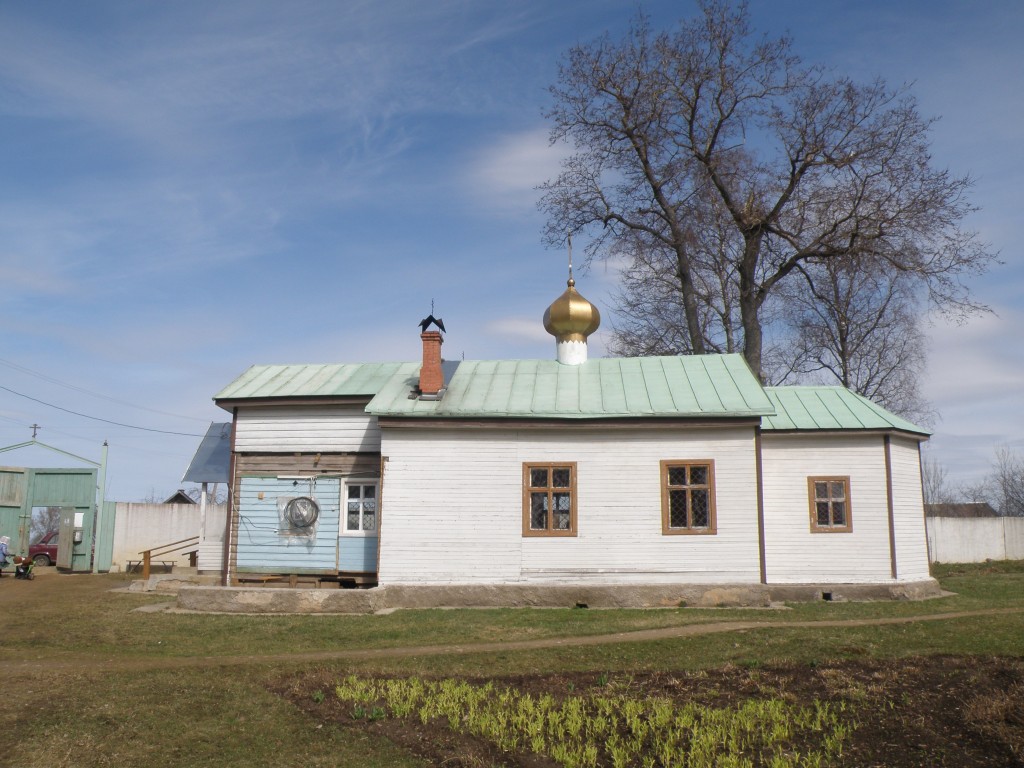
[[[541,315],[565,256],[541,245],[535,187],[565,150],[547,87],[637,7],[0,0],[0,446],[32,424],[90,459],[105,439],[108,497],[162,498],[250,365],[416,359],[431,301],[449,357],[553,356]],[[643,7],[656,28],[694,10]],[[976,478],[996,445],[1024,450],[1024,4],[751,8],[807,61],[913,83],[941,118],[935,164],[976,179],[970,224],[1005,264],[973,288],[995,311],[935,319],[925,385],[929,455]],[[577,276],[608,317],[613,268]]]

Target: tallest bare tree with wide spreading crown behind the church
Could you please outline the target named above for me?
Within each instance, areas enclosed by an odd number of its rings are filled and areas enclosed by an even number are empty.
[[[569,51],[549,118],[574,154],[542,186],[548,241],[589,229],[590,258],[630,254],[621,309],[649,309],[636,289],[656,275],[677,318],[667,348],[741,345],[763,379],[766,308],[812,264],[885,265],[946,311],[977,310],[963,280],[993,256],[962,228],[971,181],[932,167],[912,96],[803,66],[787,39],[755,37],[745,6],[700,9],[672,34],[641,15],[622,42]]]

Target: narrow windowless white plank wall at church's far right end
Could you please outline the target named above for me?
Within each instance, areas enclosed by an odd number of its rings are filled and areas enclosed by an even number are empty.
[[[916,440],[893,437],[893,521],[896,531],[896,577],[900,582],[929,579],[928,532],[921,487],[921,454]]]

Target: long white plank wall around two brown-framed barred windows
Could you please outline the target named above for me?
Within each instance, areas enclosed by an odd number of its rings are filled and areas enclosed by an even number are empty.
[[[386,427],[381,583],[759,579],[754,431]],[[662,534],[663,459],[715,462],[718,534]],[[522,536],[524,462],[577,463],[578,536]]]

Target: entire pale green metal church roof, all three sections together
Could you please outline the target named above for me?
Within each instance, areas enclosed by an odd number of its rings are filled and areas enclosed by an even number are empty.
[[[777,430],[929,432],[844,387],[762,387],[738,354],[444,364],[440,399],[411,397],[417,362],[253,366],[216,400],[371,398],[375,416],[450,419],[762,417]],[[453,373],[454,370],[454,373]]]

